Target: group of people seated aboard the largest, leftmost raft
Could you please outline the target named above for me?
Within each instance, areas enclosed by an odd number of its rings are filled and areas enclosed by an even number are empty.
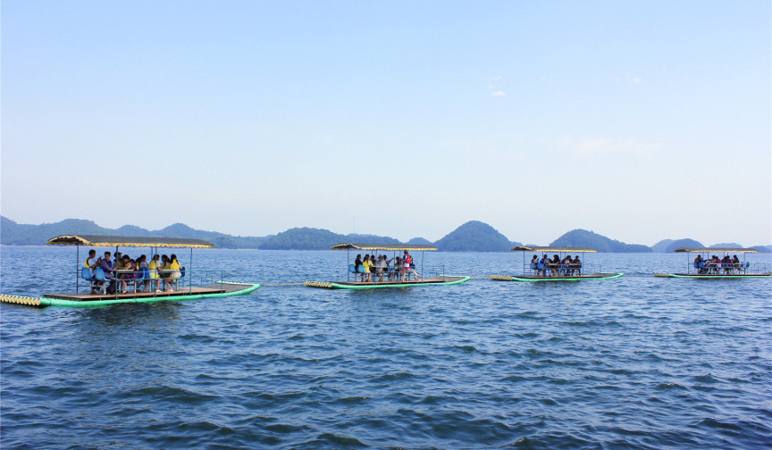
[[[103,288],[107,294],[129,292],[150,292],[155,285],[157,292],[172,292],[177,280],[182,277],[182,268],[177,261],[177,255],[154,254],[147,261],[147,256],[141,254],[136,260],[128,254],[105,252],[105,256],[96,257],[96,250],[88,251],[88,258],[83,262],[88,268],[91,282],[91,294],[100,293]],[[96,279],[96,271],[104,273],[104,281]],[[160,283],[159,283],[160,281]],[[105,283],[107,286],[105,287]]]

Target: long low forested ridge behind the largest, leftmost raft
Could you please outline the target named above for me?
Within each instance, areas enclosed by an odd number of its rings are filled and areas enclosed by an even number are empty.
[[[4,246],[43,246],[48,239],[67,234],[132,237],[188,237],[204,239],[222,248],[257,248],[266,237],[239,237],[214,231],[191,229],[182,223],[175,223],[164,229],[151,231],[135,225],[123,225],[119,229],[100,227],[94,221],[65,219],[42,225],[23,225],[0,216],[0,244]]]

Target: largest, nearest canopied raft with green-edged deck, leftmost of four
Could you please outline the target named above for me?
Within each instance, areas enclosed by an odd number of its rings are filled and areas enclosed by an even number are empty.
[[[161,301],[193,300],[197,298],[239,296],[248,294],[260,287],[256,283],[235,283],[222,279],[222,271],[193,271],[192,267],[180,267],[179,270],[117,271],[116,279],[109,279],[101,268],[90,268],[87,260],[80,259],[80,246],[88,247],[149,247],[149,254],[158,253],[162,248],[189,248],[190,265],[193,263],[193,248],[210,248],[214,244],[201,239],[176,237],[119,237],[95,235],[57,236],[48,239],[53,246],[77,246],[78,267],[75,269],[75,290],[69,293],[43,294],[41,297],[9,296],[0,294],[0,301],[29,306],[103,306],[107,304],[151,303]],[[166,274],[167,276],[164,276]],[[121,276],[124,278],[121,279]],[[200,280],[199,286],[193,286],[193,279]],[[166,281],[164,283],[164,280]],[[126,292],[107,293],[106,287],[127,285]],[[161,287],[168,287],[165,291]],[[141,286],[141,287],[140,287]],[[85,288],[85,290],[81,289]],[[117,287],[117,286],[116,286]]]

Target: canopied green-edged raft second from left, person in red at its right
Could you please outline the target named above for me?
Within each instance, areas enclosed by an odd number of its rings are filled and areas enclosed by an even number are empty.
[[[346,250],[346,261],[348,262],[348,271],[346,280],[343,281],[306,281],[307,287],[324,287],[328,289],[378,289],[384,287],[415,287],[415,286],[438,286],[438,285],[457,285],[470,279],[466,276],[446,275],[444,267],[427,269],[424,273],[424,252],[437,250],[434,246],[410,245],[410,244],[351,244],[343,243],[331,247],[332,250]],[[415,264],[409,270],[403,271],[401,267],[390,265],[387,268],[378,268],[373,266],[373,271],[369,273],[362,271],[361,265],[356,266],[351,262],[351,250],[363,250],[367,252],[387,251],[393,252],[392,259],[396,259],[398,252],[421,252],[421,266],[415,267]],[[400,254],[401,255],[401,254]],[[412,256],[411,256],[412,257]],[[416,276],[417,274],[417,276]],[[357,281],[357,278],[360,280]]]

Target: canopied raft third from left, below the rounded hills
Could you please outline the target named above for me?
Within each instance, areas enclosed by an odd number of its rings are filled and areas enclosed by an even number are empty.
[[[516,246],[513,252],[523,252],[523,271],[517,275],[491,275],[491,279],[497,281],[579,281],[582,279],[616,279],[623,275],[622,272],[603,272],[600,267],[589,265],[586,261],[562,263],[566,256],[578,254],[597,253],[587,247],[567,246]],[[525,261],[526,254],[534,254],[537,262]],[[558,255],[558,263],[547,262],[550,254]],[[554,258],[554,256],[553,256]]]

